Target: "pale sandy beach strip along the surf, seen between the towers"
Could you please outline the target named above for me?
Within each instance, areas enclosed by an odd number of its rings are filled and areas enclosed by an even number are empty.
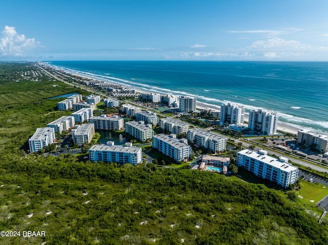
[[[101,79],[101,78],[96,77],[96,76],[81,74],[79,71],[74,71],[73,72],[73,71],[70,71],[70,69],[66,69],[66,68],[62,68],[62,67],[59,67],[59,66],[56,66],[56,65],[53,65],[53,64],[49,64],[48,62],[45,62],[45,64],[48,65],[48,66],[51,66],[53,68],[56,68],[58,70],[63,70],[64,72],[66,72],[68,74],[72,74],[74,76],[88,78],[88,79],[94,79],[94,80],[97,80],[97,81],[111,82],[113,84],[118,84],[118,85],[122,85],[122,86],[125,86],[125,87],[128,87],[128,88],[133,88],[133,89],[137,90],[138,92],[149,93],[147,91],[140,90],[139,87],[132,87],[132,86],[129,86],[125,83],[120,83],[118,81],[113,81],[113,80],[105,79],[105,78]],[[160,93],[158,93],[158,94],[160,94]],[[196,98],[196,100],[197,100],[197,98]],[[209,103],[204,103],[204,102],[199,102],[199,101],[196,102],[196,108],[200,108],[200,109],[202,109],[202,108],[211,108],[211,109],[220,111],[220,106],[219,105],[209,104]],[[249,118],[249,114],[246,113],[245,114],[245,121],[248,122],[248,118]],[[293,133],[294,135],[297,135],[298,130],[301,130],[301,129],[305,129],[305,128],[299,128],[299,127],[296,127],[296,126],[291,126],[291,125],[288,125],[288,124],[285,124],[285,123],[282,123],[282,122],[278,122],[278,125],[277,125],[277,130],[287,132],[287,133]]]

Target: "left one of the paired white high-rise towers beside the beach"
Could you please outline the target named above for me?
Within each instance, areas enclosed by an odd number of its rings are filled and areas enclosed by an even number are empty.
[[[243,125],[245,121],[245,107],[237,104],[222,104],[220,124]]]

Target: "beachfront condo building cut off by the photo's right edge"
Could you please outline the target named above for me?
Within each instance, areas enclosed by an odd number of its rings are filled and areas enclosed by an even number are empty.
[[[297,133],[297,143],[305,144],[306,147],[312,147],[321,152],[328,151],[328,135],[311,132],[309,130],[299,130]]]

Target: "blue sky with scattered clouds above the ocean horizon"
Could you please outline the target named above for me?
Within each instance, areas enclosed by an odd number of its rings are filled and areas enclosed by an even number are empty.
[[[10,0],[0,60],[328,60],[326,0]]]

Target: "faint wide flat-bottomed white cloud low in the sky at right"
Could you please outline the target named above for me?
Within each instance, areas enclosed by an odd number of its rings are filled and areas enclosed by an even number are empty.
[[[305,45],[295,40],[284,40],[282,38],[271,38],[268,40],[258,40],[248,46],[249,49],[275,49],[275,48],[292,48],[304,49]]]

